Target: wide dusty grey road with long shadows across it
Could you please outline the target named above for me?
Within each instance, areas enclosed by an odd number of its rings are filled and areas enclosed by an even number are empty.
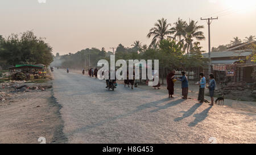
[[[109,91],[72,70],[53,74],[68,143],[256,143],[255,113],[123,85]]]

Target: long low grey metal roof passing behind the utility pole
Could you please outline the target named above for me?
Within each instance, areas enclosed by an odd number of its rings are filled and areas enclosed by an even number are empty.
[[[251,55],[250,51],[244,51],[244,50],[238,50],[238,51],[224,51],[224,52],[211,52],[210,57],[211,58],[217,58],[217,57],[244,57]],[[208,58],[208,53],[203,53],[204,58]]]

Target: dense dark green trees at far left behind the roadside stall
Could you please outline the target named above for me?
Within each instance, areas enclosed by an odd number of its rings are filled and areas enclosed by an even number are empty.
[[[52,61],[52,47],[45,43],[44,38],[35,36],[32,31],[13,33],[6,38],[0,36],[0,66],[2,68],[16,64],[48,66]]]

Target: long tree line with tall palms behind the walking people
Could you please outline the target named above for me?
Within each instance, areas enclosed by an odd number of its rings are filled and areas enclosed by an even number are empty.
[[[200,40],[205,36],[200,31],[204,26],[200,26],[194,20],[189,23],[178,19],[172,24],[167,23],[167,19],[159,19],[147,34],[152,37],[151,44],[147,46],[141,41],[134,41],[130,47],[122,44],[115,50],[115,59],[123,60],[159,60],[159,72],[162,79],[167,76],[169,70],[191,70],[192,68],[203,68],[208,60],[201,55],[203,52],[200,47]],[[87,48],[75,54],[57,57],[61,60],[63,68],[95,68],[98,60],[110,60],[112,52],[106,52],[105,48]]]

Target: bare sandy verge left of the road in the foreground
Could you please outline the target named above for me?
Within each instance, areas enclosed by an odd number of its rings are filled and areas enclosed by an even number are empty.
[[[60,108],[52,89],[11,93],[0,101],[0,143],[39,144],[39,137],[46,143],[65,143]]]

